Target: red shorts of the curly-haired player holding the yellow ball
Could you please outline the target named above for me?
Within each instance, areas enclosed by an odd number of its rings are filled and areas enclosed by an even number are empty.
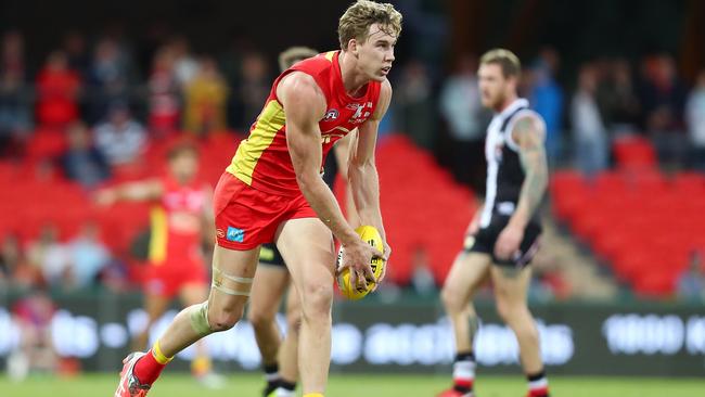
[[[216,241],[223,248],[253,249],[271,243],[289,219],[318,218],[303,194],[286,197],[254,189],[223,172],[214,195]]]

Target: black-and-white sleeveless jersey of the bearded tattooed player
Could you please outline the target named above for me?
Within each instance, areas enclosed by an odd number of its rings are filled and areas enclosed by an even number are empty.
[[[487,193],[479,219],[482,228],[488,227],[493,216],[511,216],[516,210],[525,175],[518,145],[512,139],[512,129],[517,119],[526,116],[544,123],[538,113],[528,108],[528,101],[520,98],[501,113],[495,114],[487,127]],[[531,222],[538,223],[536,214]]]

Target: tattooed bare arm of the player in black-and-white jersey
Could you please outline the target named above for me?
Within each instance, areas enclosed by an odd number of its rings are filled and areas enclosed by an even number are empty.
[[[520,248],[524,230],[538,210],[549,182],[543,124],[534,116],[518,119],[512,129],[512,140],[518,146],[518,155],[524,168],[524,183],[522,183],[516,210],[500,233],[495,246],[495,254],[504,259],[510,258]]]

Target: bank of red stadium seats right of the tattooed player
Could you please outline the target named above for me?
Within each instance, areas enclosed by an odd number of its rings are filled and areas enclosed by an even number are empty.
[[[705,247],[705,177],[670,178],[653,168],[620,168],[587,180],[555,172],[556,217],[644,296],[667,296],[693,251]]]

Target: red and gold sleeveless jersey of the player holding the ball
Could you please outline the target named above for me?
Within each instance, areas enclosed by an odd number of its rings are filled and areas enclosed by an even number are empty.
[[[338,64],[339,51],[302,61],[282,73],[272,85],[265,107],[243,140],[227,171],[254,189],[283,196],[300,194],[286,145],[286,116],[277,98],[279,81],[292,72],[303,72],[316,80],[325,95],[326,111],[319,121],[323,158],[333,143],[359,127],[374,113],[381,84],[370,81],[359,98],[346,93]]]

